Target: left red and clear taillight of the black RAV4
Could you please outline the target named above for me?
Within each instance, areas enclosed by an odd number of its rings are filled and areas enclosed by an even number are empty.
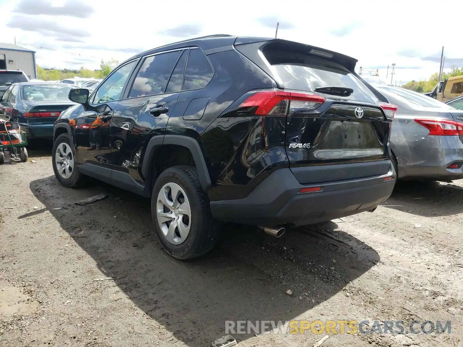
[[[315,93],[264,91],[251,95],[240,107],[257,106],[257,115],[286,116],[296,112],[313,111],[325,100]]]

